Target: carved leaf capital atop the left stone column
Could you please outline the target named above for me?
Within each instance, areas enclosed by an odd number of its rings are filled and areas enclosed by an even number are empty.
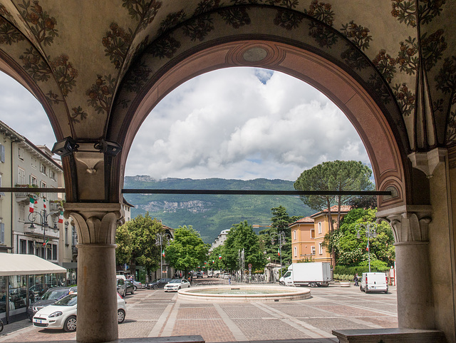
[[[115,244],[115,230],[123,222],[120,203],[66,203],[64,217],[78,230],[78,244]]]

